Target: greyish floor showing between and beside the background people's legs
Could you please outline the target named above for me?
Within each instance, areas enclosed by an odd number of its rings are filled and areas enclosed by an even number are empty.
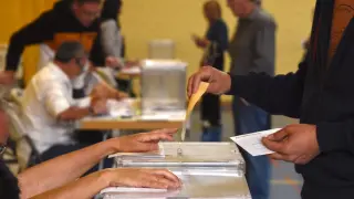
[[[196,111],[192,115],[191,134],[189,140],[196,142],[200,137],[199,114]],[[282,127],[288,124],[298,123],[282,116],[274,116],[272,119],[273,127]],[[226,109],[222,113],[223,140],[229,140],[233,136],[233,122],[231,112]],[[270,199],[300,199],[300,190],[302,185],[301,176],[294,171],[292,164],[275,161],[271,179],[271,197]]]

